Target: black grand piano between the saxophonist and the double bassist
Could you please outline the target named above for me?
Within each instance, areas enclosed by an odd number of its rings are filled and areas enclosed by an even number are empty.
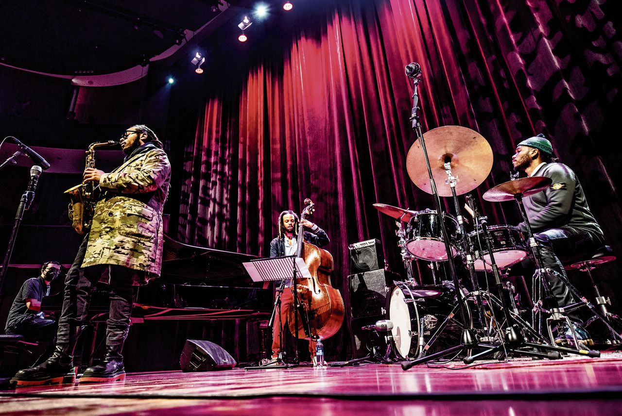
[[[159,279],[135,289],[132,322],[171,319],[241,319],[272,312],[272,291],[251,280],[242,263],[258,256],[180,243],[164,235]],[[107,285],[95,287],[90,315],[108,311]],[[41,309],[60,311],[63,291]]]

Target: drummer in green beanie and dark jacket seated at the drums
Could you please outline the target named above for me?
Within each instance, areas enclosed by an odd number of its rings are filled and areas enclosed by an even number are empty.
[[[524,197],[523,202],[534,237],[540,244],[542,267],[565,277],[562,261],[580,260],[603,246],[603,230],[590,212],[577,175],[568,166],[554,161],[552,145],[544,135],[529,137],[518,143],[512,163],[514,169],[524,171],[527,176],[552,179],[549,188]],[[526,232],[524,223],[518,226]],[[559,306],[575,303],[564,282],[553,273],[549,276],[549,286]],[[575,325],[578,341],[592,345],[576,310],[567,316]],[[566,335],[572,337],[570,333]]]

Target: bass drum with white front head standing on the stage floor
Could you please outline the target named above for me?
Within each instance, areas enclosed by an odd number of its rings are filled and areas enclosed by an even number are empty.
[[[395,282],[391,296],[387,297],[387,319],[393,322],[391,330],[392,346],[398,359],[414,359],[419,355],[419,336],[423,335],[423,345],[429,341],[456,305],[453,284],[411,286],[405,282]],[[471,313],[465,307],[467,319]],[[442,351],[460,343],[462,323],[460,312],[447,324],[440,337],[430,346],[427,354]],[[422,346],[423,346],[422,345]]]

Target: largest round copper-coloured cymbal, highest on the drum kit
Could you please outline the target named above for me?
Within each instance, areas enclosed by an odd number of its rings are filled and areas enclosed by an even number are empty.
[[[458,178],[457,195],[466,194],[480,186],[493,168],[493,150],[486,139],[475,130],[459,125],[446,125],[425,132],[424,140],[439,196],[452,196],[452,188],[445,183],[446,161],[452,166],[453,176]],[[432,193],[423,148],[418,139],[408,151],[406,169],[419,189]]]

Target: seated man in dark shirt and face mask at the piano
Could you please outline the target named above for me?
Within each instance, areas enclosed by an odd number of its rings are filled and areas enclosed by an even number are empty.
[[[50,283],[60,273],[58,261],[48,261],[41,266],[40,276],[28,279],[17,292],[5,332],[23,335],[32,341],[51,341],[56,335],[56,322],[46,319],[41,312],[41,301],[50,294]]]

